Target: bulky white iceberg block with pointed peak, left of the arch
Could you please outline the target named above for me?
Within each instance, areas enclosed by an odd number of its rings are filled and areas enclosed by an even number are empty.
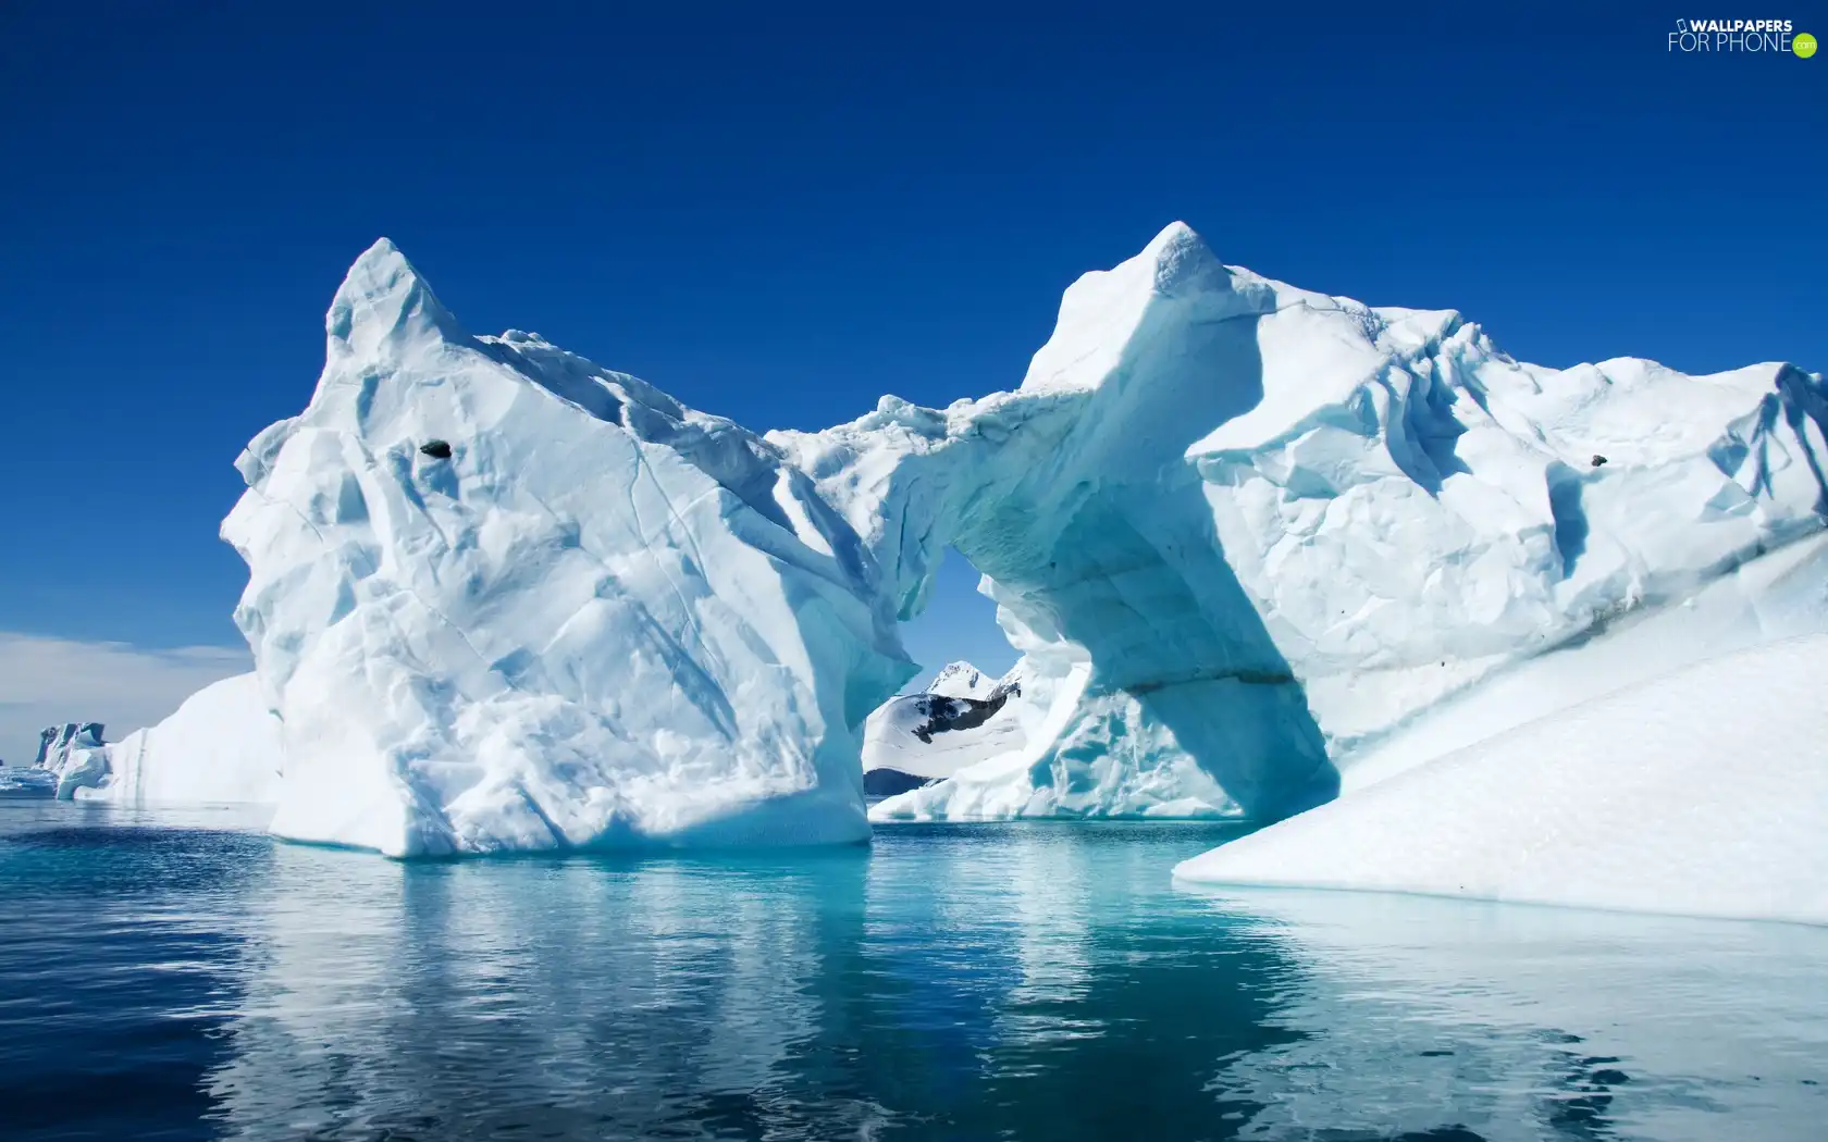
[[[812,479],[536,334],[472,338],[386,239],[327,333],[223,523],[283,725],[276,833],[391,855],[868,837],[859,731],[916,667]]]

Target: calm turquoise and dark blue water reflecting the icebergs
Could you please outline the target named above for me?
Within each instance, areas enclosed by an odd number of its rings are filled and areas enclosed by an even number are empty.
[[[1225,826],[397,864],[252,824],[0,800],[0,1137],[1828,1131],[1828,930],[1175,888]]]

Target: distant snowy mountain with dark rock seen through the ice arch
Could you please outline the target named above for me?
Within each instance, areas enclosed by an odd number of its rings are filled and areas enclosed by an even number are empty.
[[[987,678],[971,663],[949,663],[923,693],[890,698],[865,722],[863,789],[905,793],[1020,751],[1024,713],[1020,671]]]

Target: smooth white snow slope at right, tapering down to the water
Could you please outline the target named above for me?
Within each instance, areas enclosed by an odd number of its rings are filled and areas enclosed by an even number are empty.
[[[1824,674],[1819,634],[1689,665],[1174,875],[1828,925]]]

